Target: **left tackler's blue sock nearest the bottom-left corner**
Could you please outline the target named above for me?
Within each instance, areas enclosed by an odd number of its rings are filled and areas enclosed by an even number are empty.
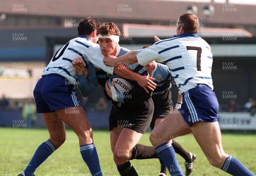
[[[50,140],[47,140],[39,145],[34,156],[30,160],[29,165],[24,170],[25,175],[33,176],[33,173],[38,166],[40,166],[55,150],[56,147]]]

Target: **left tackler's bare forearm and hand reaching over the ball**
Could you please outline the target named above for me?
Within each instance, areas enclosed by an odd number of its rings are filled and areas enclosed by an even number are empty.
[[[150,91],[154,91],[154,89],[156,88],[156,84],[152,81],[154,80],[154,78],[148,76],[141,76],[140,74],[137,74],[134,71],[128,69],[125,65],[116,65],[114,67],[113,74],[124,77],[126,79],[137,81],[147,94],[149,93],[148,89]]]

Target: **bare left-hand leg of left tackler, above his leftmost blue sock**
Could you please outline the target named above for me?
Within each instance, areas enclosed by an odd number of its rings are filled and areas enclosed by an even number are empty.
[[[50,140],[58,148],[66,139],[64,122],[58,117],[55,112],[42,114],[44,123],[50,134]]]

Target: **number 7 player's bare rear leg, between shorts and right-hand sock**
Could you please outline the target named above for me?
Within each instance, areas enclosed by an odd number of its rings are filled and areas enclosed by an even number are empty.
[[[195,122],[191,130],[209,162],[221,168],[227,154],[222,148],[218,122]]]

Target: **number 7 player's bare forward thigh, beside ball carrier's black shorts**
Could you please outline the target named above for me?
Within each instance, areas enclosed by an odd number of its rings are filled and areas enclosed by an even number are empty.
[[[167,116],[163,122],[157,125],[151,132],[150,139],[154,147],[169,142],[171,139],[191,133],[189,125],[182,115],[175,111]]]

